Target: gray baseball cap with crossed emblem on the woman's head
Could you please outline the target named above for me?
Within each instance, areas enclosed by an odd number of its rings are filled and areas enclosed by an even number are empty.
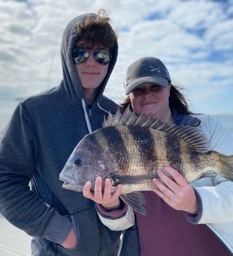
[[[162,87],[168,87],[169,82],[171,82],[171,78],[163,62],[154,57],[144,57],[133,62],[127,70],[126,95],[140,84],[155,83]]]

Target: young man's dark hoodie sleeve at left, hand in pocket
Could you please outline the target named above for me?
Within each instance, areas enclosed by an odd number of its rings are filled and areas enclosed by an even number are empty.
[[[32,117],[18,105],[0,144],[0,211],[11,224],[29,236],[62,243],[71,220],[59,215],[29,187],[38,158]]]

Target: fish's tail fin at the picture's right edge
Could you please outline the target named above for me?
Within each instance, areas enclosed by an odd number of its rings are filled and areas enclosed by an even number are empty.
[[[233,155],[226,156],[218,152],[213,152],[218,156],[218,170],[219,174],[227,178],[229,181],[233,181]]]

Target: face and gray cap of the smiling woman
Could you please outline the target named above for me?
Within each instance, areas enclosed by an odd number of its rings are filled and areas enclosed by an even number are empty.
[[[173,123],[168,101],[171,78],[161,60],[153,57],[138,59],[129,66],[125,87],[128,101],[137,114],[144,113],[165,123]],[[147,94],[155,95],[154,102],[151,102]],[[127,105],[126,102],[124,105]]]

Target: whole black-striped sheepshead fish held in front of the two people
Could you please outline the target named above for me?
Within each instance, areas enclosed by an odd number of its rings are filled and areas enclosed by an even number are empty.
[[[86,181],[110,178],[112,191],[123,184],[120,198],[145,215],[141,190],[153,190],[157,169],[171,166],[187,182],[219,173],[233,181],[233,156],[209,151],[207,138],[197,127],[168,126],[137,116],[126,108],[108,115],[101,129],[86,135],[74,148],[59,175],[62,187],[82,191]],[[92,187],[93,188],[93,187]]]

